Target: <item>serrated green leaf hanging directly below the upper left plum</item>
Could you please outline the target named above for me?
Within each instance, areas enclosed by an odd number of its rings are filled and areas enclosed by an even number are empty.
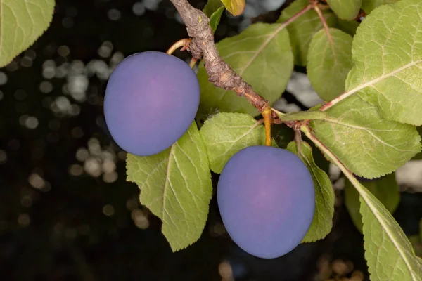
[[[173,251],[196,242],[212,196],[210,166],[195,122],[177,143],[148,157],[127,155],[127,181],[141,189],[141,204],[162,221]]]

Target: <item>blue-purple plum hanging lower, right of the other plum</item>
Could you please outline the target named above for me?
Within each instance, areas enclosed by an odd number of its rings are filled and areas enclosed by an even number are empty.
[[[315,210],[312,176],[288,150],[250,146],[224,166],[217,204],[231,239],[243,251],[274,259],[305,237]]]

